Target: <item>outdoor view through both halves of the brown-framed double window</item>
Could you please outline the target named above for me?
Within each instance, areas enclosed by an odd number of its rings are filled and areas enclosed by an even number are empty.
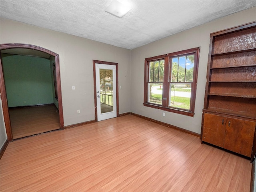
[[[191,83],[194,73],[194,55],[172,58],[170,67],[169,106],[190,109]],[[162,104],[162,86],[164,82],[164,60],[150,62],[149,100]],[[175,83],[174,83],[175,82]],[[186,82],[186,83],[184,83]]]

